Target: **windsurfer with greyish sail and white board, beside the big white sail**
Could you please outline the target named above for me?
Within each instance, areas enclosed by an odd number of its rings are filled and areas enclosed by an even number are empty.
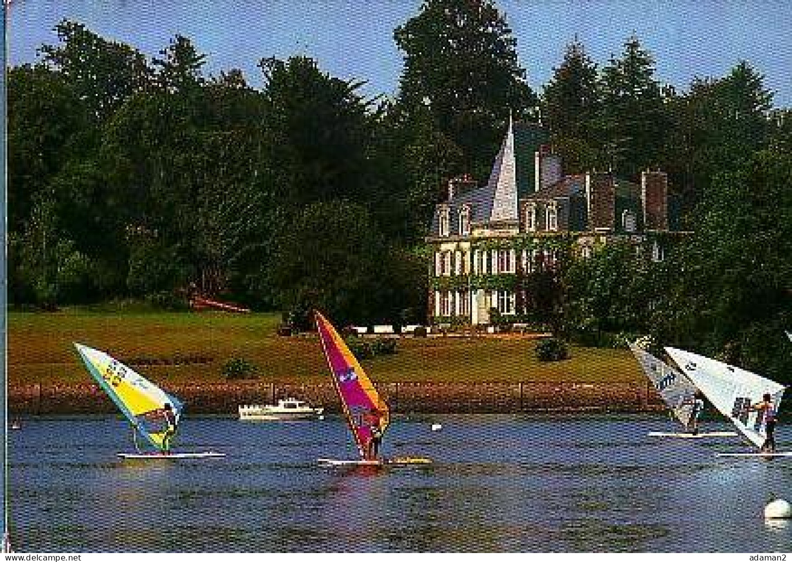
[[[672,416],[683,428],[683,431],[678,432],[650,431],[649,436],[697,439],[703,437],[733,437],[737,435],[734,431],[691,431],[691,421],[693,423],[696,421],[693,419],[695,415],[693,409],[696,393],[698,392],[696,386],[680,370],[649,353],[647,349],[650,345],[650,340],[642,338],[635,340],[632,344],[628,343],[628,345],[635,359],[641,365],[644,374],[652,382],[657,393],[660,394],[660,397],[668,406]]]

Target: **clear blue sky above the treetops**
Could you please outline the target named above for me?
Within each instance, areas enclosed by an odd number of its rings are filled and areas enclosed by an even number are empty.
[[[636,34],[654,55],[657,78],[686,91],[694,77],[720,77],[748,60],[792,106],[792,2],[741,0],[497,0],[535,90],[552,76],[577,35],[599,66],[619,57]],[[241,68],[261,85],[264,57],[308,55],[368,96],[394,96],[402,53],[394,28],[419,13],[419,0],[10,0],[8,61],[36,61],[64,17],[156,55],[177,33],[208,55],[208,74]]]

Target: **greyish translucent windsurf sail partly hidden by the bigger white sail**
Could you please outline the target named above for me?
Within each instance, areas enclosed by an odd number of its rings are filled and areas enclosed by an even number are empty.
[[[644,374],[660,393],[660,397],[671,409],[676,420],[687,429],[693,414],[695,385],[680,370],[639,347],[638,342],[629,345]]]

